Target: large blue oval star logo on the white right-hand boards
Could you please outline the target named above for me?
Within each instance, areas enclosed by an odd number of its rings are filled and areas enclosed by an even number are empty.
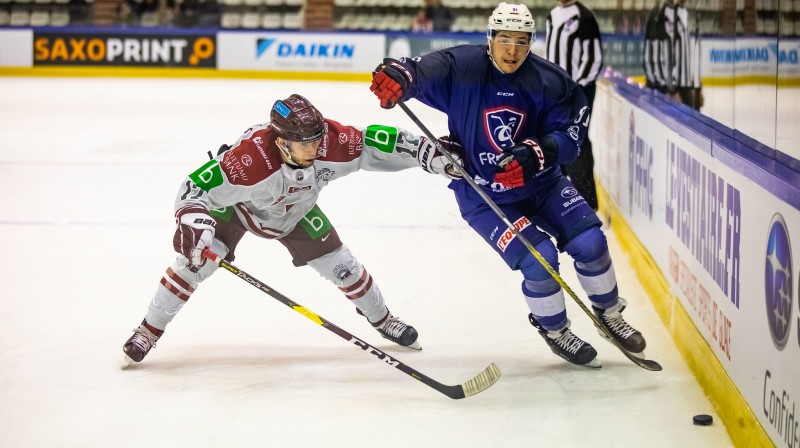
[[[769,225],[764,275],[767,322],[772,342],[783,350],[789,339],[792,316],[792,246],[783,216],[776,213]]]

